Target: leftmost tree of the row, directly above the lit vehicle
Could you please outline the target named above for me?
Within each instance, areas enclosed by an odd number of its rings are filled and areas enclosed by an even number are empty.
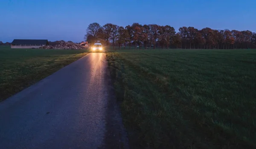
[[[94,42],[96,42],[96,40],[99,39],[99,31],[101,28],[102,27],[99,25],[99,23],[91,23],[86,29],[86,35],[84,38],[88,41],[87,37],[93,37],[93,39],[95,39]]]

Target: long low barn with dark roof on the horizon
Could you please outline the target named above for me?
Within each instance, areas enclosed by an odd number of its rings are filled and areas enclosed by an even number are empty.
[[[44,45],[49,45],[48,40],[38,39],[14,39],[11,48],[39,48]]]

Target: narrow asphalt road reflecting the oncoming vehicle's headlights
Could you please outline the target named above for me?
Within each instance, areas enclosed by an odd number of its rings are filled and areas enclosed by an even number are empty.
[[[0,103],[0,149],[123,148],[109,93],[105,53],[84,56]]]

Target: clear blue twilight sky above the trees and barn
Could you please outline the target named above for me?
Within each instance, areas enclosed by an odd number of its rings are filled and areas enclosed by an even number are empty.
[[[81,42],[87,26],[113,23],[256,32],[256,0],[0,0],[0,41]]]

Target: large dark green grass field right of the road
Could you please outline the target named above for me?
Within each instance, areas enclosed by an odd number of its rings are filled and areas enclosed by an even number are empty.
[[[256,148],[256,50],[121,50],[107,58],[131,148]]]

